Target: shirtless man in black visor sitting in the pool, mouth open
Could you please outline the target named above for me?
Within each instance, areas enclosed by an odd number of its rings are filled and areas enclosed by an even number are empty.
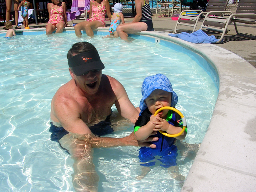
[[[68,51],[67,57],[72,79],[62,85],[52,99],[51,139],[59,142],[74,159],[72,177],[75,190],[97,191],[99,176],[92,160],[94,147],[148,146],[155,148],[155,145],[147,141],[157,141],[158,138],[150,137],[139,143],[134,133],[123,138],[94,135],[93,133],[102,135],[102,131],[109,133],[102,126],[90,125],[106,117],[109,119],[113,104],[121,116],[133,123],[136,122],[139,112],[130,102],[122,84],[113,77],[102,74],[104,64],[92,44],[75,43]],[[104,124],[105,121],[101,122]],[[110,122],[106,123],[110,124]],[[62,133],[56,133],[61,131],[61,128]]]

